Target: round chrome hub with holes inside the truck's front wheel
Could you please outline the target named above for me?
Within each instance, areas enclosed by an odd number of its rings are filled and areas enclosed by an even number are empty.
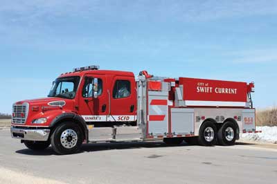
[[[66,129],[62,132],[62,135],[60,136],[60,141],[62,143],[62,146],[67,149],[75,147],[78,141],[77,133],[73,129]]]

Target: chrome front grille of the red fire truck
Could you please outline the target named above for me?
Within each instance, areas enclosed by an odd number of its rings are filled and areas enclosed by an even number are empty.
[[[24,124],[28,116],[28,105],[20,104],[12,107],[12,123]]]

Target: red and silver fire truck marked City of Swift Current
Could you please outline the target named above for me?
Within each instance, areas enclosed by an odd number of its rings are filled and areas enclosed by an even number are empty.
[[[75,68],[47,98],[15,102],[12,138],[29,149],[74,154],[83,143],[163,140],[169,145],[234,145],[257,133],[253,82],[157,77],[141,71]]]

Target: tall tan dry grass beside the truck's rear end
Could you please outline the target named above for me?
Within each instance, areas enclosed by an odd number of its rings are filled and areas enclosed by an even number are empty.
[[[256,111],[256,126],[277,126],[277,108]]]

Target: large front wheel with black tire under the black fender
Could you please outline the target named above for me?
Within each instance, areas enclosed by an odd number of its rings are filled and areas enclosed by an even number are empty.
[[[51,136],[51,146],[56,154],[75,154],[83,142],[82,130],[74,122],[64,122]]]

